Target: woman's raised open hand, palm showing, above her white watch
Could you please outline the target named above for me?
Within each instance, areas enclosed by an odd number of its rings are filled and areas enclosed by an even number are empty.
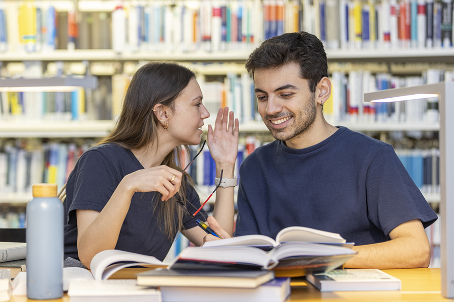
[[[208,125],[208,148],[211,157],[220,164],[233,164],[238,154],[239,122],[234,119],[234,113],[229,113],[229,107],[220,108],[217,112],[214,130]]]

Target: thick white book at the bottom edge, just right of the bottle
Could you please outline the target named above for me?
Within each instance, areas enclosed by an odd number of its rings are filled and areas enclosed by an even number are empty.
[[[71,302],[161,302],[159,289],[137,285],[135,279],[74,280],[68,296]]]

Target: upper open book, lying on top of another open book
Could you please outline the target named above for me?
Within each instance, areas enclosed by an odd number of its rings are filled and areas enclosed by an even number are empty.
[[[205,242],[203,247],[217,246],[272,246],[277,247],[284,242],[312,242],[329,243],[351,247],[353,243],[346,243],[341,235],[316,229],[306,228],[305,226],[289,226],[277,233],[276,239],[265,235],[245,235],[224,240]]]

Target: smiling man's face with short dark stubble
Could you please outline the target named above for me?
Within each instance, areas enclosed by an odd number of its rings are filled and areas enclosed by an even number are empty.
[[[275,139],[291,140],[311,128],[316,113],[315,93],[300,77],[297,63],[275,69],[256,69],[258,111]]]

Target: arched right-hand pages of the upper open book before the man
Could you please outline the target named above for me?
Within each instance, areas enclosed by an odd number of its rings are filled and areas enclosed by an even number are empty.
[[[276,242],[317,242],[317,243],[345,243],[341,235],[326,231],[306,228],[305,226],[289,226],[277,233]]]

